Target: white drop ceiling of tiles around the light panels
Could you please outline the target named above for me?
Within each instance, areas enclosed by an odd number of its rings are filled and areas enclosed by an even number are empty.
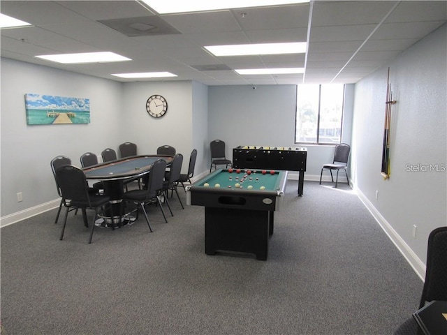
[[[168,71],[207,85],[355,83],[447,22],[447,1],[311,1],[158,15],[139,1],[5,1],[32,27],[1,29],[1,57],[119,82],[112,73]],[[308,42],[306,54],[215,57],[203,47]],[[36,55],[112,51],[132,61],[57,64]],[[297,68],[238,75],[236,68]],[[159,81],[138,79],[138,81]]]

